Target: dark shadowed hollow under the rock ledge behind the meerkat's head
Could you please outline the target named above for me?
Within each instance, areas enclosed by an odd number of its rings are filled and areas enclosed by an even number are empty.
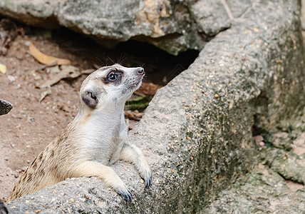
[[[107,49],[93,39],[68,29],[52,31],[54,39],[61,48],[73,52],[88,61],[88,68],[121,63],[123,66],[143,66],[147,76],[145,81],[165,86],[179,73],[195,61],[199,51],[189,50],[178,56],[167,54],[152,44],[142,41],[124,41]]]

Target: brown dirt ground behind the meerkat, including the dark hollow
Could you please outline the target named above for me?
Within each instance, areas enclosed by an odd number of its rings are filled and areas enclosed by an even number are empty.
[[[78,90],[87,76],[59,81],[51,86],[51,94],[39,102],[48,88],[36,86],[50,73],[47,69],[39,69],[42,65],[29,54],[29,44],[49,56],[68,58],[81,70],[110,65],[112,58],[125,60],[124,66],[143,66],[148,74],[146,81],[161,85],[186,69],[198,54],[188,53],[191,58],[185,58],[183,54],[174,57],[133,41],[109,51],[91,39],[65,29],[47,31],[18,27],[18,36],[7,46],[6,53],[0,54],[0,63],[7,67],[6,73],[0,73],[0,98],[14,105],[11,112],[0,116],[1,200],[6,200],[29,163],[76,116]]]

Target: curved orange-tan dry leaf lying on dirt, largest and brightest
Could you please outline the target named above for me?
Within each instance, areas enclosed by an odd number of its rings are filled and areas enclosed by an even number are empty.
[[[71,64],[71,61],[66,59],[66,58],[56,58],[53,56],[48,56],[46,54],[41,53],[41,51],[39,51],[36,46],[34,46],[33,44],[30,44],[29,46],[29,51],[30,54],[36,58],[37,61],[39,61],[40,63],[43,64],[51,64],[51,63],[56,63],[57,61],[57,65],[68,65]]]

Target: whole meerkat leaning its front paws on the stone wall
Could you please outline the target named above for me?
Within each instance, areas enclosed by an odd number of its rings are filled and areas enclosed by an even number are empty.
[[[133,196],[108,166],[123,160],[135,165],[148,188],[152,181],[142,151],[128,141],[125,101],[142,83],[143,68],[115,64],[91,73],[79,93],[81,106],[74,120],[29,165],[8,201],[54,185],[66,178],[95,176],[124,200]]]

